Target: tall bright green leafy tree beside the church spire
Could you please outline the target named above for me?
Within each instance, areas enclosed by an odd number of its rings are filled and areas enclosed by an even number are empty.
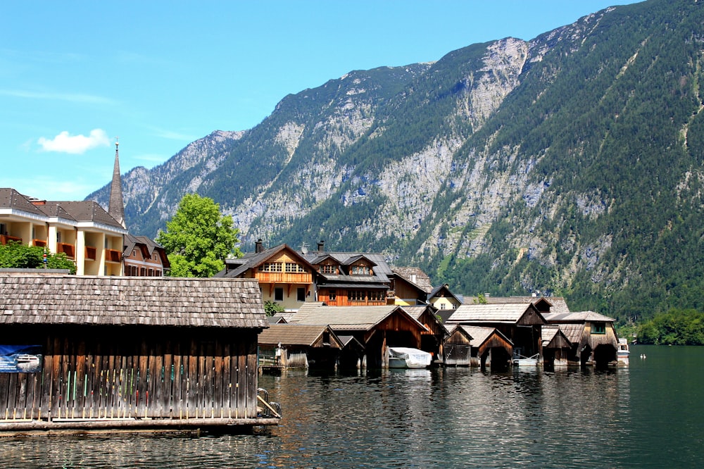
[[[213,199],[186,194],[156,242],[168,254],[172,277],[212,277],[225,268],[225,258],[242,255],[237,235],[232,217]]]

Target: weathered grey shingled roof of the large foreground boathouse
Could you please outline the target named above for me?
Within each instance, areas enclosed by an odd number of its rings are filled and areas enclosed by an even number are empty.
[[[253,279],[0,274],[0,324],[265,328]]]

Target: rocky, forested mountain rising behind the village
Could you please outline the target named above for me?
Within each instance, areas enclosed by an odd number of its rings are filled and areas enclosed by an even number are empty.
[[[245,249],[325,239],[460,294],[559,294],[622,321],[702,310],[703,44],[701,2],[650,0],[356,70],[130,171],[125,217],[156,235],[199,192]]]

